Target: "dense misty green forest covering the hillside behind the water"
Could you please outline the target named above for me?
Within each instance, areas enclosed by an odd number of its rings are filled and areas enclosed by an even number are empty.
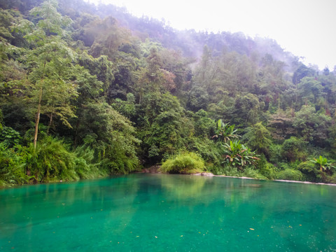
[[[336,183],[336,70],[269,38],[0,0],[0,186],[212,172]]]

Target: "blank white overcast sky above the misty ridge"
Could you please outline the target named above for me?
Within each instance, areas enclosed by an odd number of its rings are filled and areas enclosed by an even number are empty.
[[[99,0],[86,0],[99,2]],[[175,29],[242,31],[273,38],[319,69],[336,66],[336,0],[100,0]]]

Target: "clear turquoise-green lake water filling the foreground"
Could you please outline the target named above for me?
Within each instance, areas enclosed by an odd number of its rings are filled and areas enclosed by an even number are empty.
[[[0,251],[336,251],[336,187],[131,174],[0,190]]]

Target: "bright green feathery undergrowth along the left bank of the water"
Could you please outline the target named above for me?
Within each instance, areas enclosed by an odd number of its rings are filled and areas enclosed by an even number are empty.
[[[93,179],[109,174],[102,162],[94,162],[94,150],[87,146],[71,152],[63,141],[41,134],[33,144],[8,148],[0,144],[0,187],[29,182]]]

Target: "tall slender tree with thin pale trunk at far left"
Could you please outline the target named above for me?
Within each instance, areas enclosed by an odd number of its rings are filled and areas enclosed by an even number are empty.
[[[67,118],[74,116],[69,99],[76,96],[76,90],[68,81],[69,68],[73,66],[74,54],[63,38],[63,27],[69,26],[71,20],[57,12],[57,1],[48,0],[30,11],[39,20],[36,25],[22,22],[21,31],[27,41],[34,47],[29,51],[29,80],[32,83],[31,95],[37,98],[35,117],[34,148],[38,137],[40,114],[48,113],[50,125],[54,115],[71,127]],[[65,91],[65,92],[64,92]]]

